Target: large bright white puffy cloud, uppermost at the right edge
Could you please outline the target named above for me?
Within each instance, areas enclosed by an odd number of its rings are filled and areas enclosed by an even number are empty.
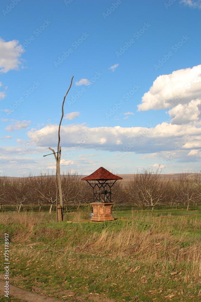
[[[159,76],[142,97],[138,111],[173,108],[200,99],[201,65]]]

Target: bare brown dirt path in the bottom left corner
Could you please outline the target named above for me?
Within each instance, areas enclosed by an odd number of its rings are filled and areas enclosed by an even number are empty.
[[[4,296],[5,295],[5,281],[0,280],[0,296]],[[22,300],[26,300],[27,302],[60,302],[61,300],[55,300],[51,297],[45,297],[45,296],[41,296],[39,294],[34,294],[30,291],[25,291],[22,288],[16,287],[13,284],[9,283],[9,295],[18,298],[18,299],[22,299]],[[63,302],[64,300],[62,300]]]

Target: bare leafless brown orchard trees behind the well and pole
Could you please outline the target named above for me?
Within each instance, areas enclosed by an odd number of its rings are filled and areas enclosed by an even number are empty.
[[[24,206],[37,206],[40,211],[42,205],[46,205],[51,214],[56,202],[55,175],[46,172],[12,181],[9,179],[0,177],[0,209],[2,206],[14,206],[20,212]],[[65,210],[72,205],[79,209],[81,205],[93,202],[91,187],[77,173],[61,175],[61,187]],[[127,182],[116,182],[112,192],[114,206],[137,205],[141,209],[151,209],[152,215],[157,205],[175,205],[176,208],[180,205],[189,210],[201,201],[201,173],[183,173],[177,180],[170,180],[162,179],[159,169],[155,172],[144,169]]]

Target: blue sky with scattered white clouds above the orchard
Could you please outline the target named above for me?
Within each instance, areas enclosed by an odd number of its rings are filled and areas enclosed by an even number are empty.
[[[0,175],[199,171],[201,1],[1,0]]]

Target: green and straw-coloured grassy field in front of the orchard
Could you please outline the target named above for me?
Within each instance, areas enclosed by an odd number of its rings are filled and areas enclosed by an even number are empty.
[[[116,207],[114,217],[130,220],[99,223],[66,222],[87,219],[89,209],[72,209],[61,223],[55,213],[0,212],[10,280],[69,301],[200,301],[201,208],[150,212]]]

